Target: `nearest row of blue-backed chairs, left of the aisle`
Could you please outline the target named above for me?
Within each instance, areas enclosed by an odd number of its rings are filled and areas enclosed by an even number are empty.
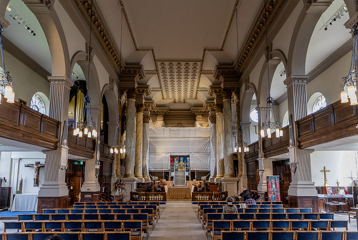
[[[44,240],[58,235],[63,240],[130,240],[130,232],[16,232],[3,233],[3,240]]]

